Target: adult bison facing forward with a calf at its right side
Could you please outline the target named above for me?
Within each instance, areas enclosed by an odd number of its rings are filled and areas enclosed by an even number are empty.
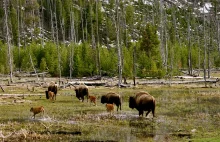
[[[88,96],[89,96],[89,89],[85,85],[79,85],[79,86],[74,86],[75,87],[75,92],[76,92],[76,97],[79,100],[84,101],[84,96],[87,97],[87,102],[88,102]]]

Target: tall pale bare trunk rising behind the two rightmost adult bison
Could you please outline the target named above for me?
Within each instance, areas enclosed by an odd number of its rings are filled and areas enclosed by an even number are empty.
[[[116,39],[116,46],[118,49],[118,86],[120,87],[121,81],[122,81],[122,61],[121,61],[121,47],[119,43],[119,2],[116,0],[116,34],[117,34],[117,39]]]

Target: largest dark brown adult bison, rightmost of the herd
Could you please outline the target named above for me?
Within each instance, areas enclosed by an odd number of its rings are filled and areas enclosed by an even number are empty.
[[[147,92],[139,92],[134,97],[129,98],[129,107],[136,108],[139,111],[139,116],[143,116],[144,111],[147,111],[147,117],[152,111],[153,117],[155,117],[155,104],[155,98]]]

